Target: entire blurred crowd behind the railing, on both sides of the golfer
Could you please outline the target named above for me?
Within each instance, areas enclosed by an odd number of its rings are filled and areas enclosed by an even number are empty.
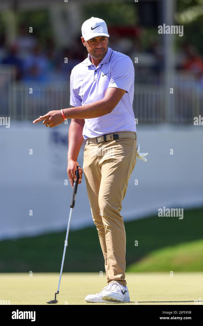
[[[158,83],[164,68],[163,46],[152,38],[148,47],[143,48],[142,32],[137,35],[131,33],[132,30],[124,32],[119,31],[119,27],[109,31],[109,47],[130,56],[133,61],[138,57],[139,65],[135,65],[137,82]],[[15,66],[17,81],[69,81],[72,68],[83,61],[87,54],[80,35],[66,48],[57,48],[52,38],[39,42],[24,25],[20,26],[19,35],[9,47],[5,46],[4,37],[0,36],[0,64]],[[67,63],[65,58],[68,59]],[[175,56],[175,66],[193,74],[203,84],[203,58],[190,44],[182,44]]]

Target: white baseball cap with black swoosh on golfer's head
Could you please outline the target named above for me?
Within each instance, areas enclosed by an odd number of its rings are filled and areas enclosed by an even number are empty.
[[[85,41],[88,41],[96,36],[109,37],[107,24],[100,18],[91,17],[90,19],[86,20],[83,22],[81,30],[82,37]]]

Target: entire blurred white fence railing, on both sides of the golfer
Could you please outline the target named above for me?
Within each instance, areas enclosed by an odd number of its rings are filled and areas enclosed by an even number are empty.
[[[23,83],[14,76],[13,69],[0,66],[0,116],[32,121],[70,106],[69,83]],[[168,85],[172,94],[163,84],[135,84],[133,110],[138,123],[192,123],[195,116],[203,115],[202,85],[193,76],[177,73]]]

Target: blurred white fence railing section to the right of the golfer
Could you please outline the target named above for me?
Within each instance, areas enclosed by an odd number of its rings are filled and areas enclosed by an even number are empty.
[[[141,123],[192,123],[203,116],[203,85],[193,76],[176,74],[167,85],[135,84],[133,109]]]

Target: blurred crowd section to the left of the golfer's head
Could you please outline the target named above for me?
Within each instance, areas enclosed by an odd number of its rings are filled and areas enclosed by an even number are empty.
[[[0,64],[15,66],[18,81],[65,82],[70,79],[72,68],[86,56],[86,49],[81,47],[80,42],[79,37],[71,48],[57,49],[53,39],[49,38],[42,45],[21,26],[11,46],[6,47],[1,38]]]

